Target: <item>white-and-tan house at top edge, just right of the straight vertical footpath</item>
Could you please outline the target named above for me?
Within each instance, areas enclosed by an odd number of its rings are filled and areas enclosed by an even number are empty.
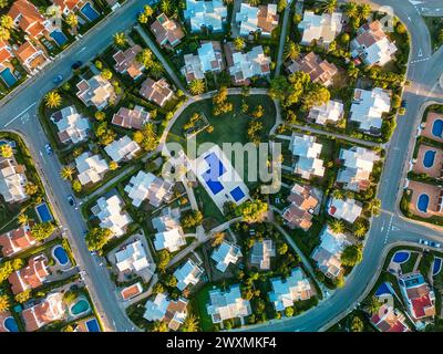
[[[342,30],[340,12],[323,12],[316,14],[312,11],[306,10],[302,21],[298,24],[298,29],[303,31],[301,44],[310,45],[312,41],[317,44],[329,48],[329,44]]]

